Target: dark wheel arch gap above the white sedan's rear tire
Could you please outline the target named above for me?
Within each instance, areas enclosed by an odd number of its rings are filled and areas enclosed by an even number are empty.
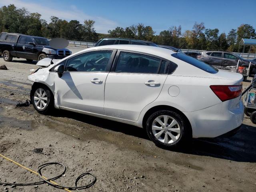
[[[180,114],[180,115],[185,119],[186,124],[188,125],[189,130],[190,130],[190,133],[189,133],[189,134],[190,134],[190,136],[192,137],[192,126],[191,126],[190,121],[189,121],[188,118],[186,117],[186,115],[185,115],[182,111],[178,110],[177,108],[174,108],[174,107],[168,106],[168,105],[158,105],[158,106],[154,106],[154,107],[150,108],[150,109],[144,114],[144,116],[143,116],[143,120],[142,120],[142,126],[143,126],[143,128],[146,128],[146,122],[147,122],[148,117],[149,117],[152,113],[154,113],[154,112],[156,112],[156,111],[159,111],[159,110],[170,110],[170,111],[174,111],[174,112]]]

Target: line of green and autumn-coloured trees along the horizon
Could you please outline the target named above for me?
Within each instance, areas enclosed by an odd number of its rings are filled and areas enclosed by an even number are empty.
[[[163,30],[160,34],[151,26],[144,26],[142,23],[128,26],[126,28],[116,27],[108,30],[108,34],[96,33],[94,20],[84,20],[80,24],[78,20],[62,20],[52,16],[49,23],[41,19],[41,14],[30,13],[25,8],[16,8],[14,4],[2,6],[0,8],[0,30],[28,34],[32,36],[42,36],[46,38],[62,37],[68,40],[97,42],[104,37],[122,37],[147,40],[160,45],[169,45],[196,50],[228,50],[231,52],[241,52],[239,42],[242,38],[256,38],[256,32],[250,24],[241,24],[237,29],[231,29],[228,34],[220,33],[218,28],[205,28],[204,23],[195,22],[192,30],[185,30],[182,33],[181,26],[172,26]],[[245,51],[248,52],[249,48]],[[256,48],[252,47],[251,52]]]

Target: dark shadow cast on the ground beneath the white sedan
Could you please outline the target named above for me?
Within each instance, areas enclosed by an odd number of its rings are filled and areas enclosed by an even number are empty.
[[[145,129],[128,124],[59,110],[56,117],[67,117],[79,122],[91,124],[107,130],[121,132],[126,135],[147,139]],[[184,149],[172,149],[170,151],[199,156],[211,156],[237,162],[256,162],[256,127],[242,124],[238,133],[231,137],[192,139],[190,145]],[[168,149],[164,149],[168,150]]]

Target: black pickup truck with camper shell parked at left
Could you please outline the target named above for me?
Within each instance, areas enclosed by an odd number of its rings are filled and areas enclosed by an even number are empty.
[[[41,60],[47,56],[64,58],[72,54],[68,49],[54,49],[49,46],[49,39],[17,33],[0,34],[0,55],[5,61],[12,58],[24,58],[28,61]]]

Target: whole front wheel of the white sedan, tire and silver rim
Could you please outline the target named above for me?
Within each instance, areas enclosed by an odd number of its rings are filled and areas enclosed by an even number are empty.
[[[38,113],[49,114],[54,108],[54,97],[45,85],[34,86],[30,93],[31,102]]]

